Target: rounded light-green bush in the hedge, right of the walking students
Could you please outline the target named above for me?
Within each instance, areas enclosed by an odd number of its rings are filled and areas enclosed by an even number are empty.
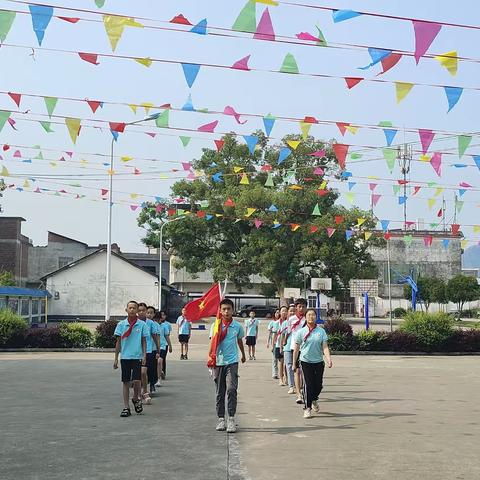
[[[400,331],[414,335],[422,347],[431,351],[442,350],[454,330],[453,321],[446,313],[409,312]]]

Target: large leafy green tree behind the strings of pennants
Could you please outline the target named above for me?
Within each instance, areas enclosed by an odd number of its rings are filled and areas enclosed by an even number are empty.
[[[367,242],[357,228],[359,218],[362,230],[376,222],[369,212],[337,204],[339,193],[327,182],[341,178],[331,144],[288,135],[272,146],[262,132],[254,135],[253,154],[235,135],[225,135],[220,151],[204,149],[192,162],[203,175],[173,185],[177,212],[188,212],[164,229],[176,266],[190,273],[208,269],[215,279],[228,278],[239,287],[260,274],[279,295],[285,287],[301,286],[305,275],[331,277],[337,296],[348,296],[351,278],[376,278],[367,247],[382,240]],[[279,163],[286,148],[291,153]],[[311,155],[322,150],[324,156]],[[173,213],[168,210],[153,203],[142,208],[138,224],[146,229],[146,245],[158,245],[159,223]],[[347,230],[355,232],[349,240]]]

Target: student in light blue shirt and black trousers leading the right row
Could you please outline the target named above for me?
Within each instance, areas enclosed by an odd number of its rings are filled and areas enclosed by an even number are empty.
[[[323,388],[324,357],[328,368],[332,368],[332,359],[328,348],[325,330],[317,325],[317,312],[310,308],[306,313],[307,324],[297,330],[294,337],[293,368],[297,370],[298,358],[303,374],[303,396],[305,401],[304,418],[312,417],[320,411],[318,396]]]

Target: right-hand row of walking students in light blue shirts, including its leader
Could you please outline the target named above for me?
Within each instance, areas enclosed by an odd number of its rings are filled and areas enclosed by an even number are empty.
[[[325,364],[332,367],[327,334],[316,321],[315,309],[307,308],[307,301],[299,298],[277,310],[268,325],[272,378],[282,387],[288,385],[288,394],[296,395],[296,403],[303,405],[304,418],[320,412]]]

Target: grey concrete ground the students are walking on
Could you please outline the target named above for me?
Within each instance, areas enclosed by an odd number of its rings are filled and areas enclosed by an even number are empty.
[[[334,356],[310,420],[271,379],[262,329],[235,435],[215,431],[206,332],[142,415],[122,419],[111,353],[0,354],[0,478],[480,478],[478,357]]]

